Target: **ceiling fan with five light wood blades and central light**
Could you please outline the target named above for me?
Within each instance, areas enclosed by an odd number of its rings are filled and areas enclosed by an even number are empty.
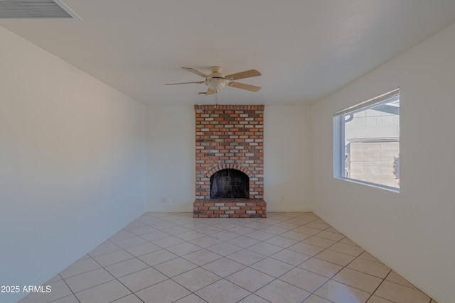
[[[259,89],[261,89],[261,87],[257,87],[255,85],[250,85],[250,84],[233,81],[233,80],[238,80],[238,79],[245,79],[245,78],[260,76],[261,73],[258,72],[257,70],[245,70],[245,72],[237,72],[235,74],[223,76],[223,74],[221,73],[222,68],[220,66],[210,67],[210,70],[212,71],[212,73],[210,75],[205,75],[203,72],[199,72],[198,70],[195,70],[190,67],[182,67],[182,68],[183,68],[183,70],[192,72],[193,74],[199,75],[200,77],[204,77],[205,80],[198,81],[198,82],[168,83],[165,85],[191,84],[191,83],[205,84],[208,86],[208,89],[207,89],[207,92],[205,92],[205,95],[218,93],[220,91],[220,89],[223,89],[223,87],[225,87],[225,86],[235,87],[237,89],[246,89],[247,91],[250,91],[250,92],[257,92]]]

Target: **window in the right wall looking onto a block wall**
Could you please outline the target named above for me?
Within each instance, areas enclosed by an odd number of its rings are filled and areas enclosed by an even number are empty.
[[[333,115],[333,177],[400,189],[400,89]]]

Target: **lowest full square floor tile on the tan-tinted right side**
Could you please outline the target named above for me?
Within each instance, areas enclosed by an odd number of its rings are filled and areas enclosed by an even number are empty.
[[[382,282],[382,279],[378,277],[367,275],[363,272],[358,272],[357,270],[351,270],[350,268],[343,268],[332,277],[332,279],[358,288],[359,290],[369,292],[370,294],[373,294]]]

